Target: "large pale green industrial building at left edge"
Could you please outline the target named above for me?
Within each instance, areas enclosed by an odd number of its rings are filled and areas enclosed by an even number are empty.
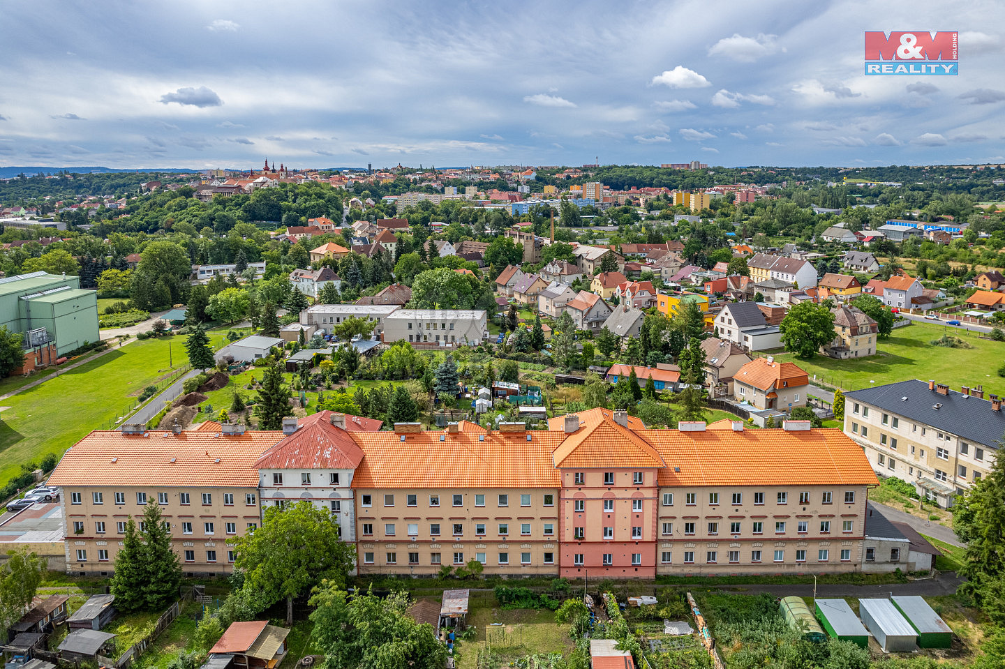
[[[77,276],[31,272],[0,278],[0,325],[24,334],[26,351],[54,347],[62,356],[100,339],[97,293],[80,288]],[[42,364],[48,364],[43,360]]]

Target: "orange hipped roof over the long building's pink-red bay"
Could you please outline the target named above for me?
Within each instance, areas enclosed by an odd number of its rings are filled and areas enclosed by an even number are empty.
[[[629,429],[615,423],[609,410],[590,409],[579,413],[579,424],[552,454],[556,467],[666,466],[656,449],[633,431],[641,429],[638,419],[628,421]]]

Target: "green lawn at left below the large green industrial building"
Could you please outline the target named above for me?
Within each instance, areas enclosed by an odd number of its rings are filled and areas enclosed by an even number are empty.
[[[23,463],[38,462],[48,453],[61,455],[90,430],[122,417],[144,388],[187,364],[184,341],[134,342],[5,400],[0,482]]]

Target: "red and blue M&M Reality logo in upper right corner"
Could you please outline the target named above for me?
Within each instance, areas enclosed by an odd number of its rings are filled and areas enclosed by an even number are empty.
[[[865,33],[869,75],[952,76],[960,73],[959,33],[927,30]]]

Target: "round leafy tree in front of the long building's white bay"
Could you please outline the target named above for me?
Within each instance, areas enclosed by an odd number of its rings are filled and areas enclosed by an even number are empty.
[[[327,582],[344,588],[354,550],[340,537],[327,508],[311,501],[265,508],[261,527],[228,541],[234,567],[244,575],[242,590],[266,606],[286,600],[286,625],[293,623],[293,599]]]

